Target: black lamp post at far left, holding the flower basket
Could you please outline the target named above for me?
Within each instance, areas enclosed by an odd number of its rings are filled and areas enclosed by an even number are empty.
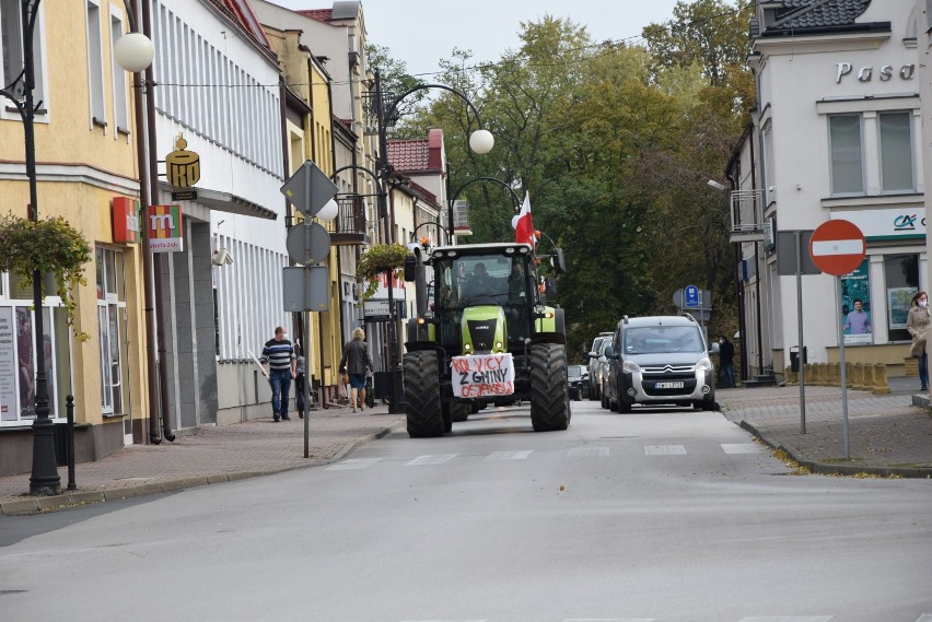
[[[23,39],[23,70],[10,84],[0,89],[3,95],[16,107],[23,120],[23,133],[26,151],[26,178],[30,185],[30,220],[38,221],[38,193],[36,190],[36,144],[35,144],[35,58],[33,43],[38,8],[42,0],[20,0],[20,17]],[[127,12],[132,15],[130,0],[124,0]],[[150,44],[151,45],[151,44]],[[151,60],[151,58],[150,58]],[[15,93],[22,87],[23,99]],[[45,369],[44,318],[42,306],[42,274],[33,271],[33,330],[35,332],[35,420],[33,421],[33,470],[30,477],[30,494],[51,496],[61,492],[61,478],[55,457],[55,424],[49,418],[48,377]]]

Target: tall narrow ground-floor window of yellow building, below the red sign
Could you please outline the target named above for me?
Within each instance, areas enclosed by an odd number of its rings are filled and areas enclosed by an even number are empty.
[[[101,347],[101,412],[129,414],[125,388],[128,369],[124,364],[126,344],[126,289],[124,255],[119,250],[96,247],[97,337]]]

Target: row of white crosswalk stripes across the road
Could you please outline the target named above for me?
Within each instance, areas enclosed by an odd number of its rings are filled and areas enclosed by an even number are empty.
[[[722,453],[727,455],[761,454],[764,447],[756,443],[721,443]],[[616,449],[616,453],[620,451]],[[482,458],[484,462],[502,462],[510,460],[528,460],[534,455],[533,449],[520,449],[512,451],[492,451]],[[689,451],[685,445],[645,445],[645,456],[687,456]],[[570,459],[609,458],[611,447],[605,445],[586,445],[583,447],[570,447],[566,449],[564,456]],[[406,467],[422,467],[427,465],[445,465],[459,458],[459,454],[424,454],[405,462]],[[469,454],[475,459],[475,454]],[[327,467],[328,471],[359,470],[365,469],[380,462],[382,458],[348,458],[336,465]],[[792,621],[795,622],[795,621]],[[808,622],[808,621],[803,621]],[[932,620],[923,621],[932,622]]]

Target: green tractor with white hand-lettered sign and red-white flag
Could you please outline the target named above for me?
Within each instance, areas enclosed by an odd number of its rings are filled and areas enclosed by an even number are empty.
[[[563,309],[547,306],[552,281],[528,244],[415,248],[416,283],[404,384],[408,434],[441,436],[489,404],[529,402],[537,432],[570,424]],[[550,265],[566,271],[562,251]],[[543,290],[543,291],[541,291]]]

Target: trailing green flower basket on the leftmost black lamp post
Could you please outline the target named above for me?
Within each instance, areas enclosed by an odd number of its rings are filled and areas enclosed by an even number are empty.
[[[33,272],[51,274],[58,295],[74,329],[73,290],[86,285],[84,265],[91,261],[91,245],[81,233],[60,216],[33,221],[7,214],[0,216],[0,270],[9,270],[30,286]],[[43,282],[43,297],[48,293]],[[85,332],[74,332],[88,341]]]

